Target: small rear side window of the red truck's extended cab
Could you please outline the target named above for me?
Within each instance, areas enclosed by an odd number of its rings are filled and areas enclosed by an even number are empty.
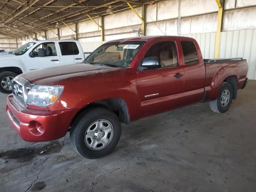
[[[181,42],[184,62],[185,65],[192,65],[198,63],[198,53],[196,50],[196,46],[192,41],[182,41]]]

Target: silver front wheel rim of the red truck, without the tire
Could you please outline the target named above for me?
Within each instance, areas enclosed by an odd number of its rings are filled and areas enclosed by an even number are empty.
[[[114,135],[111,122],[105,119],[94,121],[87,128],[84,141],[86,146],[92,150],[101,150],[108,146]]]

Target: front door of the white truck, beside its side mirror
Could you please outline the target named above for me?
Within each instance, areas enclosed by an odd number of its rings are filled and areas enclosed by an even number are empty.
[[[38,49],[44,49],[45,56],[38,56]],[[60,56],[56,51],[56,44],[54,42],[41,43],[32,51],[26,54],[25,58],[26,70],[36,70],[60,65]]]

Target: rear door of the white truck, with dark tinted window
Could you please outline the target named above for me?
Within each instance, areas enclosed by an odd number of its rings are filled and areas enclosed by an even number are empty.
[[[84,53],[79,51],[76,42],[59,42],[61,65],[75,64],[84,60]]]

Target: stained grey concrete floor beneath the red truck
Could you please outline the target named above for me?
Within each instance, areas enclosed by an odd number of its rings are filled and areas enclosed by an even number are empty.
[[[122,125],[114,152],[97,160],[76,154],[69,134],[23,141],[7,121],[6,97],[0,94],[1,192],[256,191],[256,81],[225,114],[200,103]]]

